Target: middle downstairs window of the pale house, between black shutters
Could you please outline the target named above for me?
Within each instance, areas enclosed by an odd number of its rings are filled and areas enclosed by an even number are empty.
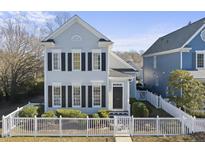
[[[73,107],[81,107],[81,86],[73,86]]]

